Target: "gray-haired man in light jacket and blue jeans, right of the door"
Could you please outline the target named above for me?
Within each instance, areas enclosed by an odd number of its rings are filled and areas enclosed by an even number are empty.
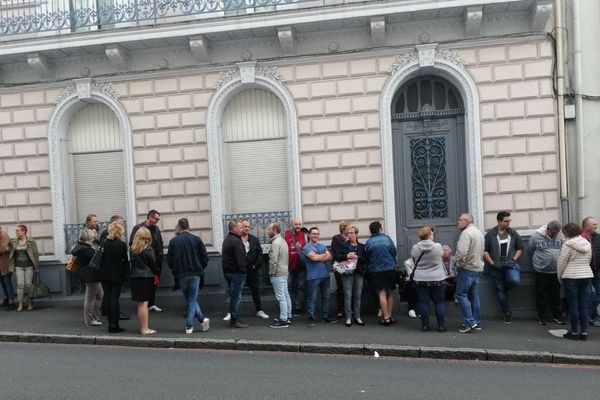
[[[484,238],[470,214],[458,218],[458,229],[462,233],[456,245],[456,298],[464,320],[458,331],[467,333],[481,330],[479,282],[483,272]]]

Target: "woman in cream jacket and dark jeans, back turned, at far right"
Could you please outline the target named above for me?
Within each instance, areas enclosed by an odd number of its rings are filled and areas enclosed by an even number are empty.
[[[594,276],[590,267],[592,246],[581,236],[577,224],[566,224],[563,233],[567,239],[558,257],[558,280],[565,290],[569,309],[571,330],[564,337],[572,340],[587,340],[588,304],[590,303],[591,282]]]

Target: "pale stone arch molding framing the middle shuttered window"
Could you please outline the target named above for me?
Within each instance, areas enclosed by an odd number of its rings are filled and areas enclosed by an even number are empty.
[[[253,70],[253,80],[242,79],[242,68]],[[246,76],[246,78],[249,75]],[[297,115],[294,99],[282,83],[277,67],[256,66],[255,62],[238,63],[237,68],[230,68],[221,73],[216,82],[216,91],[208,105],[206,128],[208,137],[208,154],[210,170],[210,202],[212,215],[213,247],[220,249],[225,232],[222,215],[225,212],[222,175],[223,141],[221,136],[221,119],[229,101],[238,93],[249,88],[261,88],[275,94],[284,106],[286,125],[288,127],[288,187],[290,190],[291,211],[294,216],[301,217],[300,161],[298,145]]]

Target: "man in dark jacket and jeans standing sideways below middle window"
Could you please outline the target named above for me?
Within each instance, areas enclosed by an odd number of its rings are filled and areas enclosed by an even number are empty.
[[[240,238],[242,224],[234,219],[228,223],[229,234],[223,240],[221,264],[223,275],[229,285],[229,325],[232,328],[247,328],[248,325],[238,319],[238,310],[242,298],[242,289],[246,280],[246,250]]]

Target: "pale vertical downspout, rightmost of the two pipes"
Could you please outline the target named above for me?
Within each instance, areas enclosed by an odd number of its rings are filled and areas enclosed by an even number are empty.
[[[573,0],[573,90],[575,92],[575,138],[577,140],[577,220],[583,218],[585,191],[585,146],[583,139],[583,87],[581,83],[581,19],[579,0]],[[585,211],[587,213],[587,211]]]

